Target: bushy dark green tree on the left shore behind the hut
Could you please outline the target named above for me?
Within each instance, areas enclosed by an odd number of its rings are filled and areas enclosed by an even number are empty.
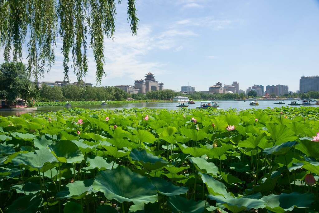
[[[0,99],[8,104],[17,98],[30,99],[31,81],[26,73],[26,66],[21,62],[5,62],[0,65]]]

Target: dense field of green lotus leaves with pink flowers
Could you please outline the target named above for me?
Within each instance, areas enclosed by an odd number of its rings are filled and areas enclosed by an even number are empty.
[[[0,117],[0,212],[318,212],[319,110]]]

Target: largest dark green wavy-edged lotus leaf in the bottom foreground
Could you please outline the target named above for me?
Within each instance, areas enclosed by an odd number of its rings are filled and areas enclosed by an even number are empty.
[[[156,187],[151,180],[119,166],[116,169],[99,171],[94,178],[93,189],[100,190],[108,200],[118,202],[153,203],[158,201]]]

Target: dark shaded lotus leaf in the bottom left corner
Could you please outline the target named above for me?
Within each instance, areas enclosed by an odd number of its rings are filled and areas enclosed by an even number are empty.
[[[26,196],[19,197],[17,200],[13,201],[10,206],[4,209],[4,213],[33,213],[37,212],[38,208],[41,206],[43,199],[37,194],[29,194]]]

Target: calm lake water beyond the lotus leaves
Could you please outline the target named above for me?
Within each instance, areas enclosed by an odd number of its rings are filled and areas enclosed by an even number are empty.
[[[273,104],[274,101],[258,101],[259,106],[250,106],[250,101],[227,101],[222,100],[219,101],[219,109],[237,109],[237,110],[245,110],[245,109],[266,109],[267,107],[274,108],[274,107],[282,107],[282,106],[288,106],[287,104],[290,103],[290,101],[286,101],[286,104]],[[195,104],[189,104],[189,109],[196,109],[197,106],[200,106],[200,102],[196,102]],[[121,109],[132,109],[132,108],[153,108],[153,109],[168,109],[168,110],[180,110],[181,108],[176,107],[178,103],[176,102],[149,102],[149,103],[118,103],[118,104],[108,104],[108,105],[82,105],[82,106],[71,106],[71,107],[65,107],[65,106],[44,106],[44,107],[38,107],[37,110],[21,110],[21,111],[0,111],[0,116],[9,116],[9,115],[16,115],[19,116],[24,113],[37,113],[40,111],[57,111],[57,110],[63,110],[65,108],[84,108],[84,109],[91,109],[91,110],[98,110],[98,109],[108,109],[108,110],[121,110]],[[314,106],[301,106],[301,107],[317,107],[319,105]],[[292,107],[300,107],[300,106],[292,106]]]

